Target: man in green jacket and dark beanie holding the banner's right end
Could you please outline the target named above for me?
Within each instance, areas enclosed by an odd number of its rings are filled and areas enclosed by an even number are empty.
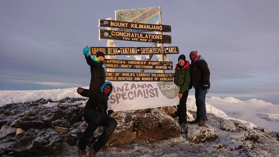
[[[190,85],[190,67],[189,62],[186,60],[185,55],[180,55],[178,57],[178,63],[175,67],[174,72],[174,83],[179,86],[180,91],[178,97],[180,99],[179,105],[177,106],[178,112],[178,123],[181,128],[185,128],[185,123],[187,122],[187,108],[186,102],[189,93]]]

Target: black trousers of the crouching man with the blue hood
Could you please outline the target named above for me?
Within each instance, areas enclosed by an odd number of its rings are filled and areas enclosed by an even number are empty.
[[[98,126],[104,126],[105,129],[102,135],[98,138],[97,142],[94,143],[93,148],[95,152],[99,151],[103,145],[108,141],[110,135],[116,128],[117,121],[107,114],[101,114],[96,109],[90,108],[84,111],[84,120],[87,122],[88,126],[85,129],[81,139],[79,140],[79,147],[85,149],[89,143],[90,138],[93,135],[93,132],[97,129]]]

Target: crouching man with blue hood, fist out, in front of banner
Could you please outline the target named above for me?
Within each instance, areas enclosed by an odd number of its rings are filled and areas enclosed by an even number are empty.
[[[80,90],[86,89],[81,88]],[[108,110],[107,114],[107,102],[108,97],[112,92],[112,84],[109,81],[105,82],[102,85],[101,90],[105,97],[104,103],[96,100],[96,98],[90,97],[85,105],[83,117],[88,126],[86,127],[80,140],[78,140],[76,143],[78,146],[78,154],[81,157],[86,157],[86,146],[88,145],[93,132],[97,129],[98,126],[104,126],[105,129],[98,140],[90,146],[90,156],[95,156],[96,152],[103,147],[103,145],[110,138],[110,135],[112,135],[117,125],[117,121],[109,116],[113,112],[113,110]]]

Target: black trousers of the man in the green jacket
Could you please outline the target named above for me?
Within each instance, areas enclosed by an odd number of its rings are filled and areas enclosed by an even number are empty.
[[[187,108],[186,108],[186,102],[188,98],[189,91],[185,91],[182,94],[182,97],[179,101],[179,105],[177,105],[177,112],[178,112],[178,123],[186,123],[187,122]]]

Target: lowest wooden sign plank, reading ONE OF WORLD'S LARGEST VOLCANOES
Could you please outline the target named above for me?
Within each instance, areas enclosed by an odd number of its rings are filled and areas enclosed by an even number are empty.
[[[171,73],[105,72],[108,81],[158,81],[172,82]]]

